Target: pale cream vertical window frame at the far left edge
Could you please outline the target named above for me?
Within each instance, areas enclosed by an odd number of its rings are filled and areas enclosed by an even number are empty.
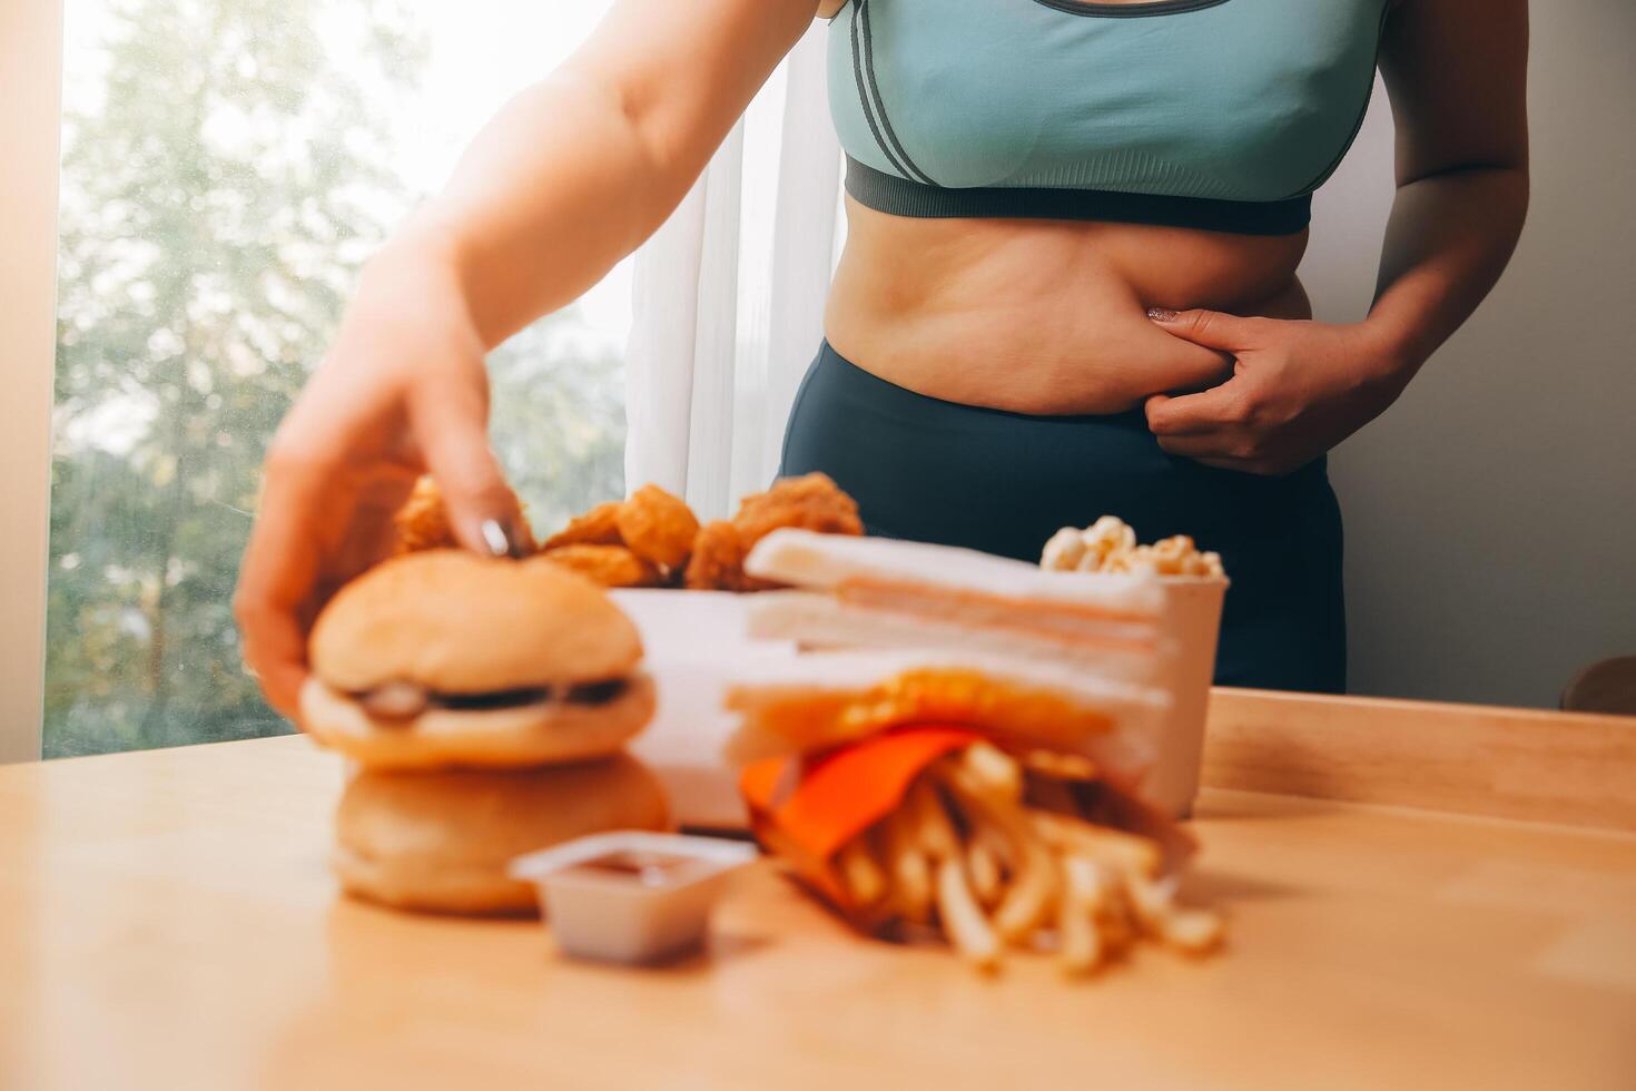
[[[0,3],[0,762],[41,756],[61,141],[62,0]]]

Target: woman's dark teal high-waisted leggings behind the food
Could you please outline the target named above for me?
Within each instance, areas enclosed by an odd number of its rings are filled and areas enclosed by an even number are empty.
[[[1142,412],[1031,417],[915,394],[818,350],[780,474],[821,469],[872,535],[1024,561],[1060,527],[1117,515],[1140,541],[1191,535],[1232,579],[1216,682],[1346,689],[1340,505],[1319,458],[1286,478],[1166,455]]]

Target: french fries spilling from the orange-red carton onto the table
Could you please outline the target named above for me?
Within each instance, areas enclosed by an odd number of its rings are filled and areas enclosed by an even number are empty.
[[[1155,841],[1026,801],[1039,798],[1031,777],[1093,775],[1076,757],[1019,761],[969,746],[921,772],[892,813],[836,854],[838,882],[861,918],[937,924],[985,973],[1006,945],[1050,937],[1070,977],[1139,937],[1189,955],[1216,949],[1222,918],[1175,903]]]

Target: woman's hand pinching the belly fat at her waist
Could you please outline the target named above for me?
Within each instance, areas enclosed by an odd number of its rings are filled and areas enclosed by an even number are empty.
[[[1364,324],[1152,309],[1175,337],[1224,353],[1232,378],[1147,399],[1158,445],[1206,466],[1286,474],[1379,415],[1409,383]]]

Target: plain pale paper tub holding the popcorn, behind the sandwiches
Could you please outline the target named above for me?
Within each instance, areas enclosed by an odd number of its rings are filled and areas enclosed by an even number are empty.
[[[1165,684],[1170,712],[1144,795],[1165,813],[1186,818],[1199,793],[1204,720],[1229,581],[1222,576],[1160,576],[1158,582],[1165,586],[1165,630],[1173,644]]]

